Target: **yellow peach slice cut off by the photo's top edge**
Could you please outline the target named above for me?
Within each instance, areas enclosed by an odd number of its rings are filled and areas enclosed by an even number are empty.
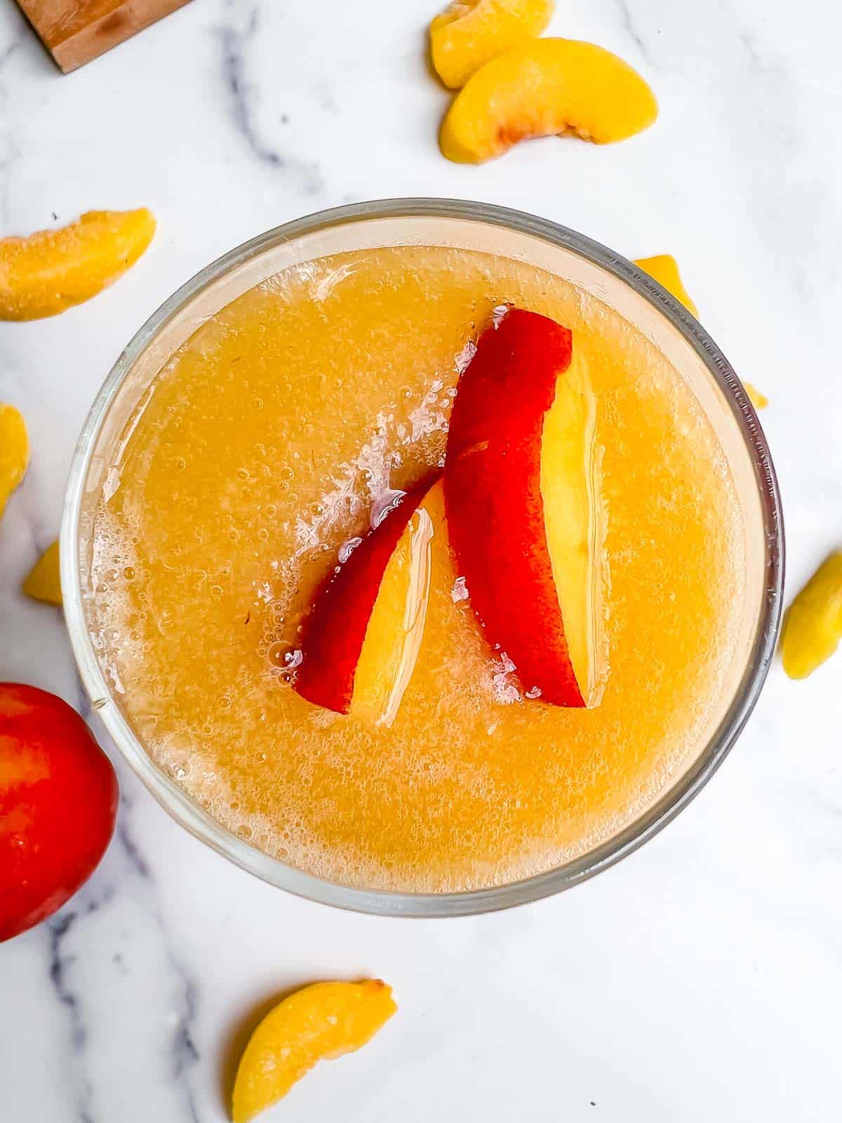
[[[543,31],[555,0],[454,0],[430,24],[430,57],[445,85],[458,89],[489,60]]]

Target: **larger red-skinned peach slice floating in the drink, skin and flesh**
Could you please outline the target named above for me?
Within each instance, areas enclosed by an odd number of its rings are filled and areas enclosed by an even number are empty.
[[[510,310],[479,338],[448,433],[457,572],[530,697],[595,705],[607,674],[595,402],[567,328]],[[569,377],[568,377],[569,376]]]

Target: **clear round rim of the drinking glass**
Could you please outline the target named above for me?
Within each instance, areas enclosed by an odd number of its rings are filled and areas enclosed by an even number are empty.
[[[258,850],[212,819],[154,764],[115,702],[88,630],[80,583],[77,547],[83,485],[109,410],[125,378],[149,343],[205,287],[251,257],[283,241],[328,227],[383,218],[465,219],[531,235],[601,266],[644,298],[683,336],[723,391],[752,463],[766,538],[765,594],[745,669],[726,712],[686,772],[621,831],[578,858],[505,885],[457,893],[377,891],[330,882]],[[491,203],[408,198],[336,207],[275,227],[223,254],[164,301],[119,355],[82,427],[67,480],[60,557],[65,620],[84,688],[123,758],[177,823],[238,866],[298,896],[360,913],[437,917],[509,909],[570,888],[628,857],[687,806],[727,756],[766,681],[780,624],[785,540],[778,482],[754,408],[716,344],[670,293],[626,258],[598,241],[547,219]]]

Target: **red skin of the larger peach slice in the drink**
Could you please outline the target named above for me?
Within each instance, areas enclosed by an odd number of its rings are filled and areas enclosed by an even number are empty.
[[[479,338],[459,381],[445,465],[448,533],[486,639],[523,690],[584,706],[547,542],[541,441],[570,331],[510,310]]]

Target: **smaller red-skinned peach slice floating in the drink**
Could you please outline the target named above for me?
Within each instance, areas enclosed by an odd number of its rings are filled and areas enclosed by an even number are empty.
[[[431,478],[401,494],[317,593],[295,690],[336,713],[391,724],[421,642],[432,524],[413,515]]]

